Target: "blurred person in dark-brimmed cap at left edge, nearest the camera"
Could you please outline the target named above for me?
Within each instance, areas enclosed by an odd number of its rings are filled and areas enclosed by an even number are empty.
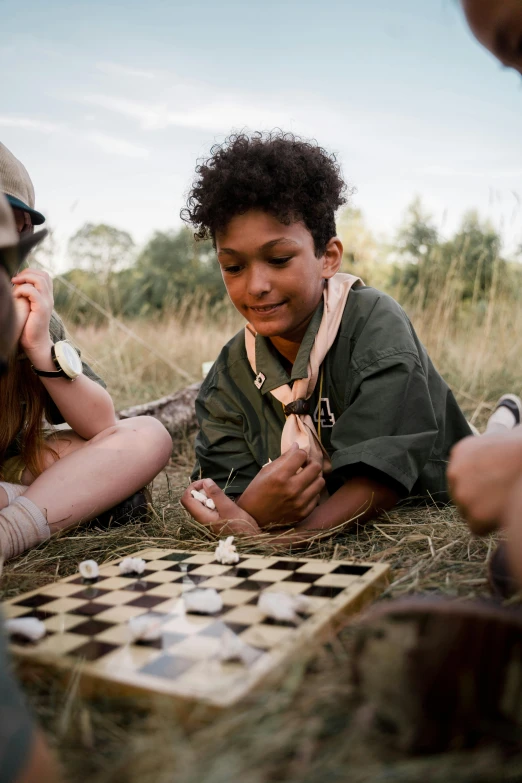
[[[15,322],[11,277],[28,251],[45,236],[20,238],[13,214],[0,193],[0,376],[14,346]],[[43,734],[35,725],[11,671],[0,617],[0,783],[56,783],[60,778]]]

